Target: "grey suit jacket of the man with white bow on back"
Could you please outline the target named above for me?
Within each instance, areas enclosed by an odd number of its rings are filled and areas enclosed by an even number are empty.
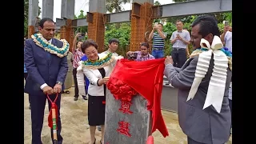
[[[194,141],[206,144],[222,144],[230,138],[231,115],[228,91],[232,73],[228,68],[226,89],[220,114],[213,106],[202,110],[214,68],[214,60],[213,58],[211,59],[208,72],[198,86],[198,91],[194,98],[186,102],[194,81],[197,63],[198,56],[190,58],[180,70],[177,70],[172,65],[167,65],[165,69],[165,75],[171,85],[178,88],[178,121],[183,132]]]

